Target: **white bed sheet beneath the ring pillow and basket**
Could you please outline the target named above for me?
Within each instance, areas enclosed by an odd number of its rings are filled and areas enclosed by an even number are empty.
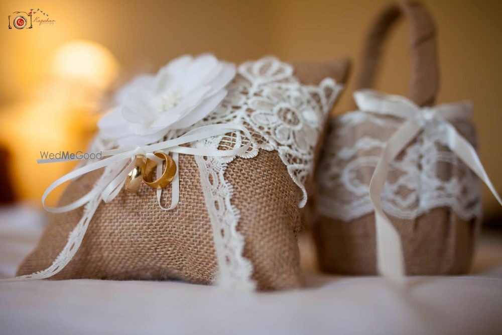
[[[27,206],[0,209],[3,277],[43,221]],[[256,294],[174,281],[0,283],[0,334],[500,334],[500,241],[483,240],[475,274],[416,277],[404,293],[378,277],[311,271],[306,289]]]

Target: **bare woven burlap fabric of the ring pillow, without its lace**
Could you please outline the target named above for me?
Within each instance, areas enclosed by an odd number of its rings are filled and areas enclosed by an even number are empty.
[[[302,83],[325,77],[345,79],[347,61],[298,64]],[[138,193],[121,191],[101,203],[90,221],[76,255],[53,279],[179,279],[209,284],[217,261],[213,232],[204,202],[199,170],[192,156],[180,155],[180,201],[174,210],[160,210],[155,190],[142,184]],[[72,182],[60,203],[69,203],[90,190],[100,171]],[[232,204],[240,211],[238,231],[245,239],[243,256],[253,264],[258,289],[287,289],[303,285],[296,234],[302,228],[301,191],[275,151],[260,151],[252,159],[236,158],[225,170],[233,185]],[[169,203],[168,186],[162,202]],[[36,249],[18,275],[45,269],[64,247],[82,208],[51,214]]]

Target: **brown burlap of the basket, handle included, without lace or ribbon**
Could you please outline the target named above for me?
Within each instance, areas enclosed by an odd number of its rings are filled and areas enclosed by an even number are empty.
[[[411,26],[411,54],[413,61],[412,82],[409,96],[419,106],[434,103],[438,89],[438,66],[436,55],[436,32],[429,13],[419,4],[403,3],[386,8],[371,27],[367,37],[362,69],[357,88],[372,86],[383,41],[392,24],[404,15]],[[334,141],[353,143],[355,140],[377,131],[372,124],[355,127],[351,134],[342,136],[340,124],[335,119],[327,136],[324,151],[330,151]],[[389,122],[389,121],[387,121]],[[456,124],[453,123],[455,127]],[[457,128],[475,146],[475,133],[472,124]],[[391,134],[379,134],[389,138]],[[338,144],[340,143],[338,142]],[[412,142],[412,143],[417,143]],[[367,153],[358,151],[357,157],[364,158]],[[327,169],[333,156],[323,155],[320,169]],[[398,156],[397,160],[400,157]],[[342,163],[344,164],[344,163]],[[360,179],[371,178],[374,167],[365,171]],[[318,171],[319,173],[319,171]],[[442,166],[438,176],[447,180],[450,176],[472,173],[467,166],[456,163]],[[387,180],[395,180],[397,172],[390,171]],[[323,187],[320,185],[319,187]],[[336,192],[324,189],[324,192]],[[407,192],[407,190],[403,190]],[[478,189],[467,192],[479,192]],[[479,205],[479,199],[477,203]],[[389,215],[399,232],[402,241],[406,272],[408,275],[461,274],[469,270],[479,216],[470,220],[462,219],[451,207],[436,207],[414,219],[402,219]],[[335,219],[318,213],[313,227],[319,266],[323,271],[350,275],[374,275],[376,267],[376,239],[374,213],[351,220]]]

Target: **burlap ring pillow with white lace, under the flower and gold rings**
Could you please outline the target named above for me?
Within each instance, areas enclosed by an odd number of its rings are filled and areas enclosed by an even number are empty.
[[[219,281],[261,290],[302,286],[299,204],[346,70],[346,60],[295,68],[273,57],[241,64],[222,104],[203,124],[244,126],[253,136],[249,152],[226,160],[180,154],[180,199],[172,210],[159,208],[156,191],[145,184],[136,194],[122,190],[101,202],[76,254],[50,278]],[[229,146],[225,141],[215,146]],[[201,145],[207,143],[191,144]],[[100,174],[72,182],[61,203],[85,194]],[[170,203],[171,187],[162,204]],[[18,275],[50,267],[83,212],[51,214]]]

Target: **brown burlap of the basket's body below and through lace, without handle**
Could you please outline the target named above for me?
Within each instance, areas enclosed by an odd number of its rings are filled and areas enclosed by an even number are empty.
[[[336,123],[332,125],[336,126]],[[453,125],[455,126],[455,123]],[[473,127],[465,127],[466,124],[462,126],[457,130],[475,145]],[[361,124],[354,127],[350,136],[337,138],[337,141],[343,141],[350,147],[351,143],[368,134],[368,127],[374,125]],[[335,128],[330,129],[325,151],[329,151],[329,146],[333,145],[333,135],[336,131]],[[390,135],[386,134],[383,137]],[[343,146],[340,142],[338,145]],[[401,159],[400,156],[398,160]],[[357,158],[364,159],[364,157],[366,157],[364,151],[357,152]],[[323,157],[323,159],[328,158]],[[341,164],[333,161],[328,163]],[[322,162],[320,168],[326,166],[329,164]],[[358,173],[361,174],[358,179],[369,181],[373,169],[360,169]],[[396,170],[389,171],[388,180],[396,180],[400,173]],[[442,164],[436,173],[443,180],[449,180],[451,176],[461,177],[472,172],[465,164],[457,163]],[[402,192],[401,196],[404,196],[408,190],[403,189]],[[401,236],[408,275],[461,274],[468,271],[474,254],[479,217],[466,221],[452,208],[437,207],[415,219],[402,219],[392,215],[389,215],[389,218]],[[374,213],[368,213],[351,221],[317,213],[313,233],[319,265],[323,271],[350,275],[376,274]]]

